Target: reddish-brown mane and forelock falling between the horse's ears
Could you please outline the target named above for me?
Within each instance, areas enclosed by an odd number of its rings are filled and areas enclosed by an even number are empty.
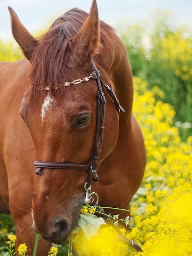
[[[74,80],[74,69],[70,65],[72,62],[67,60],[72,51],[74,37],[78,34],[87,16],[88,13],[85,11],[78,8],[71,9],[56,19],[49,30],[38,38],[39,45],[31,58],[32,67],[29,76],[31,96],[33,95],[35,99],[39,99],[40,96],[39,86],[49,87],[49,92],[60,94],[60,91],[63,91],[65,87],[62,86],[60,90],[54,90],[54,85]],[[103,44],[107,44],[109,40],[109,37],[107,38],[105,35],[106,28],[108,31],[113,30],[105,22],[100,22],[100,40]],[[41,92],[42,97],[44,97],[46,90]]]

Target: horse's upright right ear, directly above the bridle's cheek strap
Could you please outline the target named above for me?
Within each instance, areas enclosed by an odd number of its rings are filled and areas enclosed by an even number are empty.
[[[74,39],[74,54],[92,57],[100,47],[100,22],[96,0],[93,0],[89,16]]]

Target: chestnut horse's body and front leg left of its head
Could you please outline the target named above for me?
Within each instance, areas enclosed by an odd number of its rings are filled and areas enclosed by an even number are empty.
[[[36,155],[30,131],[20,117],[30,66],[27,59],[0,62],[0,212],[11,212],[18,238],[16,247],[26,243],[32,255],[35,234],[30,228],[31,201]],[[39,255],[48,248],[50,244],[41,241]]]

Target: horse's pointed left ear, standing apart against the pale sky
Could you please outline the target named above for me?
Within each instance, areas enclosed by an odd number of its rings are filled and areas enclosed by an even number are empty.
[[[11,27],[13,37],[15,38],[18,45],[21,47],[25,56],[30,61],[33,50],[38,45],[38,40],[36,40],[36,38],[34,38],[29,33],[29,31],[22,25],[17,14],[13,11],[13,9],[9,6],[8,9],[11,15]]]

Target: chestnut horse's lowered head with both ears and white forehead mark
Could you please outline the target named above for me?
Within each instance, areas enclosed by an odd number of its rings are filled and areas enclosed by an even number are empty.
[[[33,228],[45,240],[61,244],[79,216],[87,175],[91,176],[89,184],[95,178],[90,175],[95,171],[90,170],[93,158],[96,169],[118,138],[118,112],[109,94],[104,139],[100,135],[105,111],[101,105],[98,110],[98,102],[105,104],[105,98],[102,94],[98,99],[92,58],[97,56],[105,83],[113,84],[101,64],[107,56],[105,49],[100,53],[103,45],[97,5],[93,0],[89,15],[78,9],[68,11],[38,39],[27,31],[13,9],[9,7],[9,11],[13,36],[31,63],[21,116],[31,132],[41,169],[33,183]]]

